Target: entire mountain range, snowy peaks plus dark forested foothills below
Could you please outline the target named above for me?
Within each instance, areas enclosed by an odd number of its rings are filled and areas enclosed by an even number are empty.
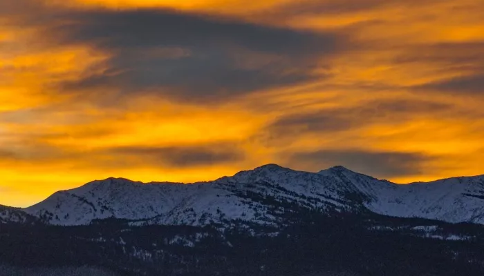
[[[119,275],[484,275],[484,177],[398,185],[274,164],[214,181],[109,178],[0,206],[0,263]]]

